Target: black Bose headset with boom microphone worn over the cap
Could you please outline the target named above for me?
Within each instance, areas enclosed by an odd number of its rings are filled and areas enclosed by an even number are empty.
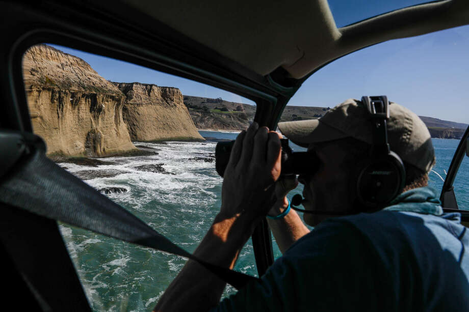
[[[387,120],[389,119],[387,97],[363,96],[361,103],[369,113],[373,144],[368,158],[359,161],[357,166],[356,191],[359,202],[364,206],[360,209],[360,212],[370,212],[383,208],[402,191],[405,184],[405,168],[401,158],[390,150],[387,141]],[[302,196],[296,194],[292,198],[292,205],[298,206],[302,200]],[[292,208],[312,214],[350,214],[350,212],[311,211],[296,207]]]

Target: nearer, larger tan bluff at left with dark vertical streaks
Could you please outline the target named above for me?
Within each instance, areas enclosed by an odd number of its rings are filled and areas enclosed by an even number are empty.
[[[125,96],[82,59],[36,45],[24,54],[23,78],[33,130],[48,155],[137,150],[122,119]]]

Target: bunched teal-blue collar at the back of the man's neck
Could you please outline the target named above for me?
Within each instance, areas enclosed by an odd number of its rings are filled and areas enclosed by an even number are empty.
[[[442,215],[443,209],[436,190],[430,186],[414,188],[399,194],[388,207],[388,211],[410,211]]]

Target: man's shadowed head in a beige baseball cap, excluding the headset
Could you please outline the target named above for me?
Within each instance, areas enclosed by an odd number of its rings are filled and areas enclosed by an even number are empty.
[[[308,210],[352,211],[357,208],[357,171],[370,157],[373,123],[366,106],[347,100],[330,109],[319,120],[279,123],[293,143],[318,155],[321,166],[312,176],[300,176],[305,184],[303,206]],[[396,103],[389,104],[388,143],[404,162],[404,190],[426,185],[434,164],[430,134],[422,120]],[[317,224],[327,216],[305,214],[305,221]]]

